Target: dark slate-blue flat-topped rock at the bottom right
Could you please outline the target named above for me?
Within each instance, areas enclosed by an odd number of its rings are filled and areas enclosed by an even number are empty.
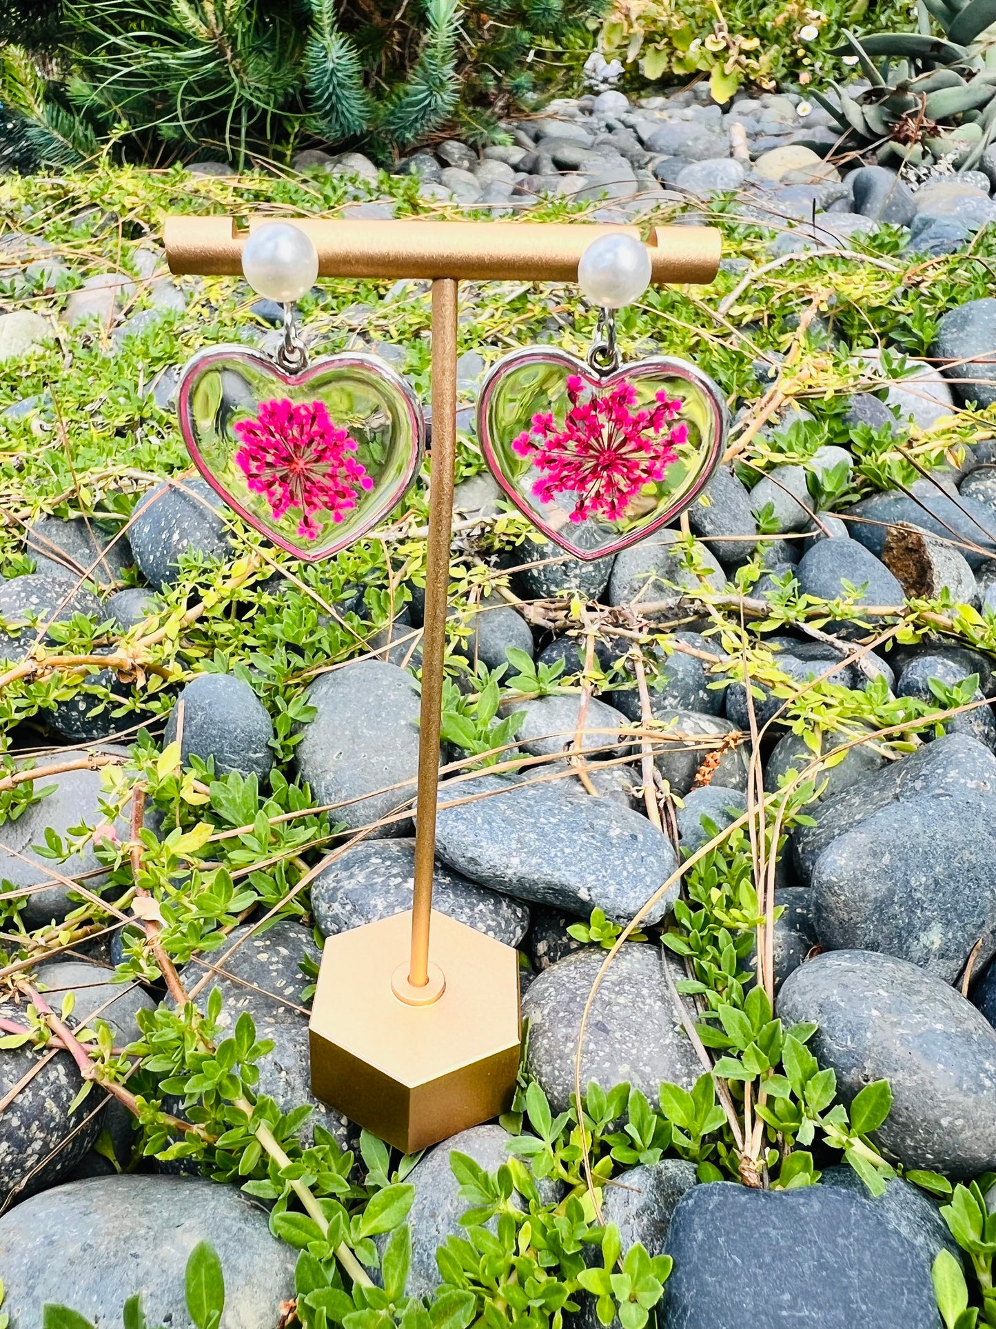
[[[938,1329],[918,1245],[862,1196],[837,1187],[696,1185],[675,1209],[668,1253],[675,1271],[661,1329],[807,1321],[819,1329]]]

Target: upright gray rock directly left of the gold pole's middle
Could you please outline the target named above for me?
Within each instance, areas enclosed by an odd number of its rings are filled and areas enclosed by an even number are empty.
[[[317,715],[304,726],[295,751],[297,771],[316,803],[336,804],[336,821],[351,831],[410,803],[418,772],[420,710],[410,674],[386,661],[357,661],[317,678],[308,702]],[[409,835],[410,827],[402,819],[378,835]]]

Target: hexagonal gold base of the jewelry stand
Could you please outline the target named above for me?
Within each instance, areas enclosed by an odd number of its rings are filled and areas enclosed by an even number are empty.
[[[311,1014],[311,1088],[413,1154],[511,1106],[519,1065],[518,954],[437,910],[430,1005],[392,990],[408,965],[410,913],[329,937]]]

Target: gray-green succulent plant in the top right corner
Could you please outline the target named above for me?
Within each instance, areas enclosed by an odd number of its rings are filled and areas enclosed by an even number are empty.
[[[950,161],[971,170],[996,134],[996,0],[920,0],[920,32],[855,37],[834,54],[857,57],[871,86],[861,93],[837,86],[839,106],[813,92],[847,136],[846,145],[878,149],[892,166]],[[931,19],[943,36],[931,33]],[[983,40],[980,40],[983,39]]]

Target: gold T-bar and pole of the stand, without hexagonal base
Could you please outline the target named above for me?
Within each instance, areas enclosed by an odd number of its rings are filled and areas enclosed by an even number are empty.
[[[429,922],[436,865],[436,800],[440,781],[440,724],[446,598],[450,577],[453,474],[457,453],[457,288],[461,280],[576,282],[578,263],[598,235],[636,226],[582,222],[335,221],[315,217],[169,217],[165,242],[170,271],[201,276],[242,275],[242,246],[259,226],[290,221],[311,237],[320,276],[413,278],[433,283],[432,311],[432,480],[425,562],[422,699],[416,800],[414,896],[412,901],[410,989],[429,985]],[[709,226],[657,226],[647,239],[655,284],[712,282],[721,237]],[[445,981],[445,974],[441,975]],[[417,993],[398,991],[420,1005]],[[437,978],[422,1001],[442,993]]]

